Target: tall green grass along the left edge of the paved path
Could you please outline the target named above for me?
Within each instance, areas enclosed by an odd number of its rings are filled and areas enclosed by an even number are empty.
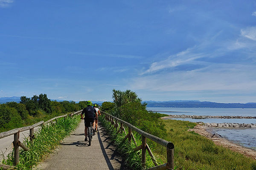
[[[31,170],[49,153],[52,153],[61,140],[76,129],[80,122],[79,116],[67,117],[66,119],[56,119],[55,124],[44,125],[38,132],[35,133],[35,138],[30,141],[28,138],[23,142],[28,148],[28,151],[20,150],[20,160],[17,164],[17,170]],[[13,165],[14,152],[7,156],[7,159],[2,161],[3,164]],[[0,170],[2,170],[0,168]]]

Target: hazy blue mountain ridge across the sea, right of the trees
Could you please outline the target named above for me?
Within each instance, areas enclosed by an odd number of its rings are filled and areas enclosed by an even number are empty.
[[[143,101],[148,103],[147,107],[170,107],[170,108],[256,108],[256,103],[216,103],[200,102],[197,100],[176,100],[176,101]]]

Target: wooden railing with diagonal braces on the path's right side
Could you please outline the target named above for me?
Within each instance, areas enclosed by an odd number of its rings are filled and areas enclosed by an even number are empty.
[[[137,146],[134,148],[134,150],[142,150],[142,156],[141,156],[141,163],[142,163],[142,167],[145,169],[145,161],[146,161],[146,150],[148,150],[148,154],[150,155],[155,167],[151,167],[148,168],[148,170],[174,170],[174,144],[172,142],[168,142],[166,140],[163,140],[161,138],[158,138],[156,136],[153,136],[149,133],[144,132],[143,130],[140,130],[139,128],[131,125],[128,122],[125,122],[121,119],[118,119],[115,116],[112,116],[106,112],[102,113],[105,115],[105,119],[109,122],[111,122],[111,124],[113,125],[113,127],[116,128],[116,130],[118,130],[118,132],[122,133],[125,132],[125,127],[124,125],[126,125],[128,127],[128,134],[125,136],[125,138],[123,139],[123,141],[125,141],[126,139],[128,139],[129,142],[131,142],[131,140],[133,140],[133,142],[137,145],[135,139],[134,139],[134,135],[132,133],[132,130],[136,131],[137,133],[141,134],[142,136],[142,144],[140,146]],[[119,126],[119,123],[120,126]],[[150,139],[151,141],[154,141],[164,147],[166,147],[167,149],[167,163],[165,164],[161,164],[161,165],[157,165],[157,161],[153,155],[153,153],[151,152],[150,148],[148,147],[147,144],[147,138]]]

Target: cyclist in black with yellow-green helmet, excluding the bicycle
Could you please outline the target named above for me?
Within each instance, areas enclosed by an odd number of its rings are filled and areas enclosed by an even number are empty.
[[[88,127],[90,126],[90,123],[94,122],[94,118],[98,119],[98,116],[96,115],[96,110],[92,107],[92,102],[89,100],[86,102],[87,107],[83,109],[81,113],[81,119],[84,119],[84,136],[85,139],[84,141],[87,141],[87,130]],[[84,114],[84,118],[83,118]]]

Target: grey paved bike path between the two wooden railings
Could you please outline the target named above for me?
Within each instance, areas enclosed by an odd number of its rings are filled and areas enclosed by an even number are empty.
[[[84,123],[64,139],[59,149],[44,160],[43,170],[124,170],[122,158],[117,155],[104,129],[93,136],[91,146],[84,142]]]

